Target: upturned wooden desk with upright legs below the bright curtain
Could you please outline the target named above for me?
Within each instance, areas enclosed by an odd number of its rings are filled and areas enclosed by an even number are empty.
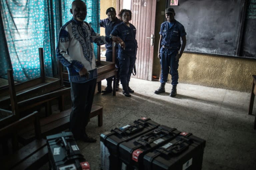
[[[12,70],[8,71],[8,85],[0,87],[0,111],[10,116],[0,120],[0,127],[6,126],[20,118],[19,102],[23,101],[24,104],[24,101],[28,101],[31,98],[42,96],[64,87],[61,74],[58,74],[58,78],[45,76],[43,48],[39,48],[39,59],[41,76],[38,78],[15,83]],[[59,67],[58,71],[59,73],[62,72],[62,68]],[[12,111],[10,111],[10,106]]]

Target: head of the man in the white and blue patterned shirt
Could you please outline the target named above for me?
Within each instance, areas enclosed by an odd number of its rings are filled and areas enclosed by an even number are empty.
[[[70,9],[73,18],[77,21],[84,21],[87,15],[86,5],[82,1],[73,3],[72,9]]]

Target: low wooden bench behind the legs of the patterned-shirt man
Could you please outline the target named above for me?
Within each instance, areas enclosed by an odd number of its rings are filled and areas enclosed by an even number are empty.
[[[92,110],[89,118],[98,116],[98,126],[102,126],[102,110],[100,106],[92,106]],[[71,109],[65,110],[63,112],[53,114],[51,116],[40,119],[42,137],[45,138],[48,135],[59,133],[65,129],[69,128],[69,118]],[[19,140],[21,143],[28,143],[34,139],[34,131],[32,125],[25,127],[21,133],[19,133]]]

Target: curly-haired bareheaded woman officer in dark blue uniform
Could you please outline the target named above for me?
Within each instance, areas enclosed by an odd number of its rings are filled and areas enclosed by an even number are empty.
[[[122,9],[118,14],[122,19],[122,23],[115,26],[110,35],[120,37],[124,43],[125,48],[118,45],[118,58],[120,66],[120,82],[123,87],[123,94],[126,97],[130,97],[130,93],[133,93],[129,87],[129,81],[131,78],[132,70],[135,65],[136,53],[137,53],[137,41],[136,41],[136,28],[130,23],[132,19],[131,10]]]

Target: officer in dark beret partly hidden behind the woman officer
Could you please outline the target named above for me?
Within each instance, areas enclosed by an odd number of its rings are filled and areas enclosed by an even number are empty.
[[[111,31],[114,29],[114,27],[118,24],[120,24],[122,21],[119,20],[116,17],[116,10],[113,7],[110,7],[107,9],[106,11],[106,15],[108,18],[100,20],[100,27],[104,27],[105,28],[105,35],[109,36]],[[112,61],[112,42],[105,44],[106,47],[106,61]],[[119,68],[119,61],[117,58],[118,55],[118,47],[117,45],[115,46],[115,64],[116,64],[116,68],[117,68],[117,79],[116,79],[116,91],[119,90],[119,72],[120,72],[120,68]],[[113,91],[112,88],[112,80],[113,77],[109,77],[107,78],[107,87],[105,88],[105,90],[102,90],[102,93],[111,93]]]

